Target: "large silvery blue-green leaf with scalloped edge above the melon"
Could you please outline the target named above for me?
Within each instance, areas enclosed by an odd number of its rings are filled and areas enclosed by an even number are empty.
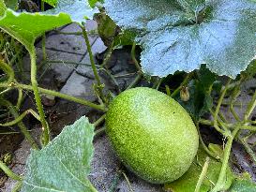
[[[105,7],[117,25],[137,33],[143,72],[152,76],[190,72],[205,63],[234,78],[256,54],[251,0],[108,0]]]

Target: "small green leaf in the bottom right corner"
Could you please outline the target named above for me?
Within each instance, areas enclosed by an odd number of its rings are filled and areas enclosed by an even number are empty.
[[[248,179],[235,179],[230,192],[255,192],[256,184]]]

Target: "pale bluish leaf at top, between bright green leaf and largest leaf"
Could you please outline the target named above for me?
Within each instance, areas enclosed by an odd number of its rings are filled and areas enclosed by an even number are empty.
[[[59,14],[65,12],[70,15],[73,22],[83,22],[84,19],[93,19],[98,8],[90,7],[88,0],[58,0],[57,6],[47,10],[46,14]]]

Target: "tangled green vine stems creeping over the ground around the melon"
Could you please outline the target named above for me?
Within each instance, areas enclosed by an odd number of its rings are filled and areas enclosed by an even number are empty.
[[[43,3],[42,3],[42,7],[43,7]],[[34,148],[34,149],[39,149],[43,146],[46,146],[50,141],[50,127],[45,118],[45,113],[43,110],[43,105],[41,103],[40,94],[57,96],[57,97],[60,97],[63,99],[67,99],[69,101],[73,101],[73,102],[88,106],[88,107],[96,109],[98,111],[105,112],[108,109],[108,104],[110,103],[110,98],[107,95],[105,95],[103,92],[104,84],[100,80],[98,71],[99,70],[105,71],[106,74],[109,75],[111,80],[117,85],[117,81],[115,80],[117,77],[113,76],[112,73],[105,67],[106,63],[109,61],[111,54],[113,52],[113,49],[114,49],[113,44],[112,44],[109,52],[107,52],[102,65],[96,65],[95,60],[94,60],[94,55],[93,55],[93,52],[91,49],[91,45],[89,42],[89,38],[88,38],[88,32],[86,31],[86,28],[84,27],[84,23],[79,24],[79,26],[82,29],[82,33],[79,33],[79,35],[83,35],[83,37],[84,37],[84,40],[85,40],[85,43],[87,46],[87,51],[88,51],[89,57],[90,57],[90,62],[91,62],[91,64],[89,64],[89,65],[92,67],[96,81],[97,81],[97,83],[94,85],[94,89],[95,89],[96,95],[98,96],[99,104],[87,101],[82,98],[68,96],[68,95],[53,91],[53,90],[44,89],[44,88],[39,87],[38,81],[37,81],[38,70],[37,70],[37,63],[36,63],[36,49],[35,48],[29,52],[30,58],[31,58],[31,84],[23,84],[16,80],[14,70],[11,67],[11,63],[13,61],[0,60],[0,68],[8,76],[8,79],[6,81],[0,82],[0,88],[2,88],[1,92],[0,92],[0,104],[1,104],[1,106],[5,106],[8,109],[8,111],[11,113],[11,115],[13,116],[12,121],[9,121],[5,124],[0,124],[0,126],[14,126],[14,125],[19,126],[25,139],[29,141],[32,148]],[[76,64],[76,63],[68,62],[68,61],[60,62],[60,61],[47,60],[47,55],[46,55],[46,50],[45,50],[45,35],[43,35],[43,37],[42,37],[42,47],[43,47],[43,62],[44,63],[49,62],[49,63]],[[131,58],[133,60],[134,65],[137,67],[137,73],[136,73],[137,76],[128,85],[127,89],[130,89],[130,88],[136,86],[137,83],[143,79],[143,72],[142,72],[140,63],[137,61],[136,56],[135,56],[135,48],[136,48],[136,43],[133,43],[132,48],[131,48]],[[84,65],[88,65],[88,64],[84,64]],[[177,96],[180,93],[181,89],[184,86],[187,86],[188,82],[191,81],[193,78],[194,78],[193,72],[188,73],[187,76],[184,78],[184,80],[180,83],[180,85],[176,89],[173,90],[173,92],[171,91],[171,88],[169,87],[169,85],[165,85],[166,94],[168,96],[172,96],[172,97]],[[153,87],[158,89],[161,86],[163,80],[164,79],[158,79],[155,82],[155,85],[153,85]],[[236,140],[236,141],[240,142],[241,144],[243,144],[246,151],[248,152],[248,155],[250,155],[251,158],[253,159],[254,163],[256,163],[256,155],[254,154],[254,152],[248,145],[248,138],[251,137],[251,135],[256,132],[256,126],[255,126],[256,122],[249,120],[249,117],[250,117],[252,111],[254,111],[254,109],[256,107],[256,92],[254,93],[250,102],[248,103],[248,106],[244,113],[243,118],[239,117],[239,115],[236,113],[236,111],[233,108],[237,96],[240,95],[240,87],[244,81],[245,81],[245,79],[243,78],[243,76],[241,76],[238,81],[233,81],[232,79],[229,79],[227,81],[226,85],[223,86],[223,88],[219,94],[217,106],[213,107],[212,109],[209,109],[209,113],[212,115],[213,120],[208,120],[208,119],[203,119],[203,118],[200,118],[199,120],[194,119],[194,123],[198,128],[200,141],[202,143],[203,149],[205,150],[205,152],[208,155],[211,155],[214,158],[216,158],[222,162],[222,167],[221,167],[221,170],[220,170],[219,176],[218,176],[218,182],[217,182],[217,184],[215,184],[214,188],[212,189],[212,192],[218,192],[218,191],[222,190],[223,185],[225,185],[227,168],[229,165],[229,159],[230,159],[230,155],[231,155],[233,140]],[[4,97],[5,94],[7,94],[8,92],[10,92],[13,89],[18,90],[18,101],[15,106],[13,106],[13,104],[11,104]],[[21,114],[19,113],[20,108],[23,103],[23,90],[32,91],[34,93],[38,111],[33,111],[33,110],[29,109],[27,111],[23,111],[23,113],[21,113]],[[121,90],[119,90],[119,91],[121,91]],[[233,114],[233,118],[235,119],[234,123],[228,122],[226,120],[225,116],[221,113],[221,106],[223,104],[224,97],[227,96],[227,92],[231,92],[231,94],[229,95],[230,101],[229,101],[229,103],[227,103],[227,105],[229,107],[229,110]],[[30,132],[27,130],[27,128],[23,124],[23,118],[28,113],[32,114],[36,119],[38,119],[38,121],[40,121],[40,123],[42,125],[42,136],[41,136],[42,146],[38,146],[37,142],[33,139]],[[98,121],[96,121],[94,123],[94,126],[102,125],[104,122],[104,119],[105,119],[105,114],[103,114],[98,119]],[[200,126],[201,125],[215,127],[215,129],[219,132],[219,134],[221,134],[227,140],[227,142],[225,143],[224,155],[223,155],[222,159],[219,156],[213,154],[208,149],[206,144],[203,142],[203,138],[200,134]],[[244,134],[243,130],[247,130],[246,135]],[[98,135],[103,134],[104,131],[105,131],[104,126],[102,128],[99,128],[98,130],[96,130],[96,137]],[[198,184],[196,186],[196,190],[195,190],[196,192],[200,191],[200,187],[202,185],[203,178],[205,177],[205,174],[207,172],[208,164],[209,164],[208,159],[206,159],[205,164],[203,166],[202,173],[201,173],[199,181],[198,181]],[[16,175],[11,170],[9,170],[8,167],[5,165],[5,163],[2,161],[0,161],[0,169],[4,170],[8,174],[8,176],[14,180],[17,180],[17,181],[23,180],[22,177]],[[124,172],[122,172],[122,174],[128,181],[127,175]],[[21,183],[19,183],[17,185],[17,188],[21,187],[20,185],[21,185]],[[129,185],[129,182],[128,182],[128,185]],[[129,185],[129,187],[130,187],[130,190],[132,190],[130,185]]]

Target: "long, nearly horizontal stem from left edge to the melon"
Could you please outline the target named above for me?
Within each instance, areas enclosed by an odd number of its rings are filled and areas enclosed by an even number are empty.
[[[7,83],[0,83],[0,87],[8,87],[8,86],[9,85]],[[33,91],[33,87],[31,85],[13,83],[13,84],[11,84],[11,86]],[[75,96],[68,96],[66,94],[61,94],[59,92],[55,92],[53,90],[44,89],[44,88],[40,88],[40,87],[38,87],[38,91],[41,94],[47,94],[47,95],[50,95],[50,96],[57,96],[57,97],[60,97],[60,98],[64,98],[64,99],[67,99],[69,101],[73,101],[73,102],[76,102],[76,103],[79,103],[79,104],[82,104],[82,105],[85,105],[85,106],[89,106],[89,107],[94,108],[98,111],[107,111],[107,109],[104,106],[97,105],[95,103],[92,103],[92,102],[87,101],[87,100],[82,99],[82,98],[78,98],[78,97],[75,97]]]

